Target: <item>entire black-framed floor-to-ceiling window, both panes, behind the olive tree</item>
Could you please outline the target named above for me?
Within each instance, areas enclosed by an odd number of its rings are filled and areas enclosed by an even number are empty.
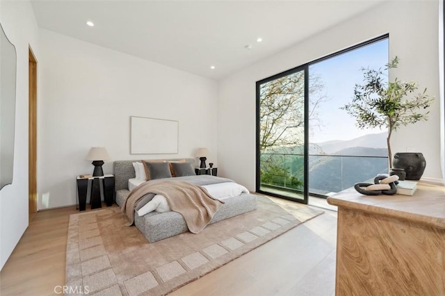
[[[388,35],[257,82],[257,191],[307,203],[387,172],[386,131],[340,108],[363,68],[388,63]]]

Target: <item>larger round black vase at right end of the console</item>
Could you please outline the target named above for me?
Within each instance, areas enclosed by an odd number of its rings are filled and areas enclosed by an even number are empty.
[[[394,154],[392,165],[405,170],[406,180],[419,180],[425,171],[426,161],[419,152],[398,152]]]

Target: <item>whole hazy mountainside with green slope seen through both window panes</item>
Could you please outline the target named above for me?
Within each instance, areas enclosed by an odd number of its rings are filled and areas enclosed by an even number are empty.
[[[309,191],[321,195],[339,192],[355,183],[373,179],[388,172],[387,133],[364,135],[353,140],[334,140],[309,145]],[[293,176],[303,180],[303,147],[275,149],[277,164],[287,167]],[[284,179],[274,175],[276,186]]]

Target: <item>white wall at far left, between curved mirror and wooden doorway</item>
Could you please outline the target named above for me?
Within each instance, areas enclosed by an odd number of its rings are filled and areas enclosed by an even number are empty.
[[[13,184],[0,191],[0,270],[28,227],[28,49],[39,58],[38,27],[29,1],[0,1],[0,22],[17,51]]]

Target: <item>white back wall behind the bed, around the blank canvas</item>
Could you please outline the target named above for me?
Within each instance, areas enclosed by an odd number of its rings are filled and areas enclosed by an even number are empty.
[[[76,204],[76,176],[92,174],[92,146],[111,161],[194,157],[216,163],[217,83],[40,29],[38,208]],[[130,116],[179,121],[179,153],[131,155]]]

